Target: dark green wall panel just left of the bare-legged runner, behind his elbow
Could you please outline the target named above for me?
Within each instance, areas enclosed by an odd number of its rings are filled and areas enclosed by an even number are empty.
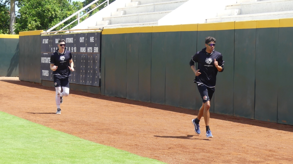
[[[191,57],[196,53],[197,31],[182,31],[180,42],[180,107],[196,109],[196,84],[193,83],[195,74],[189,66]],[[196,64],[195,64],[196,65]],[[202,102],[202,101],[200,101]]]

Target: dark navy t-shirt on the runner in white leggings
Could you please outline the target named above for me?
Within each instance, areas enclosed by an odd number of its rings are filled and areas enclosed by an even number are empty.
[[[68,66],[70,67],[69,60],[72,59],[72,55],[70,51],[66,50],[66,48],[64,48],[64,53],[59,53],[58,50],[59,49],[51,55],[50,63],[57,66],[56,71],[53,71],[53,76],[57,78],[67,78],[70,76]]]

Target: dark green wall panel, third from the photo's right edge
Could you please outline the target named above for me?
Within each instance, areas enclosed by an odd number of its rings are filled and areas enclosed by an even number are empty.
[[[254,119],[256,29],[235,29],[234,116]]]

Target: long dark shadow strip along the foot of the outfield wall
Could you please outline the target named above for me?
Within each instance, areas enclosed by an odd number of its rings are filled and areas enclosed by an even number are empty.
[[[46,87],[46,86],[42,86],[40,84],[32,83],[32,82],[18,81],[18,80],[0,80],[0,81],[4,81],[4,82],[7,82],[7,83],[12,83],[12,84],[16,84],[16,85],[21,85],[21,86],[32,87],[32,88],[40,88],[40,89],[50,90],[50,91],[55,92],[55,89],[52,88],[52,87]],[[153,103],[148,103],[148,102],[127,100],[127,99],[124,99],[124,98],[109,97],[109,96],[97,95],[97,94],[81,92],[81,91],[70,90],[70,94],[81,95],[81,96],[96,98],[96,99],[100,99],[100,100],[121,102],[121,103],[125,103],[125,104],[139,105],[139,106],[155,108],[155,109],[161,109],[161,110],[166,110],[166,111],[172,111],[172,112],[177,112],[177,113],[189,114],[190,115],[190,121],[193,118],[195,118],[197,116],[197,114],[198,114],[197,110],[192,110],[192,109],[184,109],[184,108],[172,107],[172,106],[168,106],[168,105],[161,105],[161,104],[153,104]],[[276,129],[276,130],[283,130],[283,131],[287,131],[287,132],[293,132],[293,126],[292,125],[284,125],[284,124],[279,124],[279,123],[258,121],[258,120],[248,119],[248,118],[240,118],[240,117],[227,116],[227,115],[215,114],[215,113],[210,113],[210,118],[224,120],[224,121],[231,121],[231,122],[235,122],[235,123],[242,123],[242,124],[260,126],[260,127]],[[164,136],[161,136],[161,137],[164,137]]]

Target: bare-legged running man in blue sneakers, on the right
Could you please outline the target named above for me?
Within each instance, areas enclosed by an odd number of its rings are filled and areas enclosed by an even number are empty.
[[[200,97],[202,98],[202,106],[198,112],[197,118],[192,120],[194,125],[194,131],[196,134],[200,134],[200,118],[202,115],[205,119],[206,125],[206,137],[212,138],[212,132],[209,129],[209,108],[210,100],[215,92],[216,76],[218,71],[224,71],[224,61],[221,53],[214,50],[216,46],[216,39],[213,37],[205,38],[205,46],[201,51],[197,52],[189,62],[190,68],[195,73],[194,83],[197,83]],[[197,70],[194,63],[197,62]]]

